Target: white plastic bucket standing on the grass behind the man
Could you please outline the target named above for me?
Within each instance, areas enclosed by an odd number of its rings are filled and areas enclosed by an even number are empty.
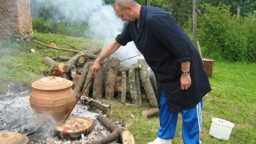
[[[234,124],[220,118],[211,118],[210,135],[212,137],[228,140]]]

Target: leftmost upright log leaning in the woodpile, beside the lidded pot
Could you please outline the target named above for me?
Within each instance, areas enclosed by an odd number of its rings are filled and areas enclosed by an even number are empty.
[[[83,66],[81,76],[80,76],[80,78],[77,81],[77,85],[73,89],[74,93],[78,94],[81,91],[81,89],[83,87],[83,84],[84,84],[84,81],[86,80],[86,76],[87,76],[88,71],[89,71],[89,66],[90,66],[90,62],[87,62]]]

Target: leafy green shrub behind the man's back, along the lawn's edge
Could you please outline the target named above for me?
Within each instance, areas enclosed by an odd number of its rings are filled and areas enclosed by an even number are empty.
[[[197,19],[197,34],[202,55],[228,62],[256,62],[256,20],[249,17],[230,16],[230,7],[200,5],[204,17]],[[192,36],[193,22],[184,25]]]

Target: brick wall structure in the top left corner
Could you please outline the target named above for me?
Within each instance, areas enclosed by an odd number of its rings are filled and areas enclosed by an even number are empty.
[[[0,39],[33,37],[29,0],[0,0]]]

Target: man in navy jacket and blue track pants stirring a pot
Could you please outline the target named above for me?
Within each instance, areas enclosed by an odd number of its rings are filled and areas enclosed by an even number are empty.
[[[95,60],[91,74],[100,62],[134,41],[154,71],[158,89],[160,128],[150,143],[171,143],[178,113],[182,114],[184,143],[201,143],[202,97],[211,90],[204,65],[195,45],[166,11],[137,4],[134,0],[116,0],[116,14],[129,23]]]

